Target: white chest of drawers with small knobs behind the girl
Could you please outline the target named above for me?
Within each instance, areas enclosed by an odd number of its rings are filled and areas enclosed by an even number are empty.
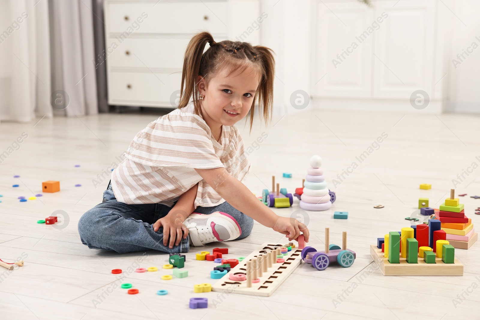
[[[195,33],[258,45],[264,19],[259,0],[105,0],[104,15],[108,104],[141,107],[177,106]]]

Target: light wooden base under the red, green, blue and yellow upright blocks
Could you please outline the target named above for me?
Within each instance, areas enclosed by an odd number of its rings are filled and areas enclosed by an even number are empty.
[[[376,245],[370,246],[370,255],[383,275],[463,275],[463,264],[457,259],[455,263],[444,263],[435,258],[436,263],[426,263],[419,257],[418,263],[408,263],[407,259],[400,257],[400,263],[390,263]]]

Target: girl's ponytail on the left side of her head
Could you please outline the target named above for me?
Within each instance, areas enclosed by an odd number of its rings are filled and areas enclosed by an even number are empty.
[[[200,114],[198,106],[197,78],[200,71],[200,61],[207,43],[214,43],[213,36],[209,32],[201,32],[192,37],[188,43],[183,58],[183,69],[181,73],[180,103],[178,108],[185,107],[193,97],[195,113]]]

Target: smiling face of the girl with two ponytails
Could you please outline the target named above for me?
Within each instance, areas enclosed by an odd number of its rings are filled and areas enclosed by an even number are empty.
[[[260,75],[252,67],[233,71],[230,75],[228,72],[228,68],[218,72],[208,86],[202,76],[198,76],[199,93],[204,95],[200,100],[202,116],[213,131],[245,118],[260,83]]]

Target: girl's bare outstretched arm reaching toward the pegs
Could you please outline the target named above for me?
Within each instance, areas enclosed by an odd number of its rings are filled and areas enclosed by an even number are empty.
[[[288,240],[296,239],[300,231],[308,242],[308,228],[297,219],[280,217],[265,206],[253,195],[252,191],[232,177],[228,171],[222,168],[195,169],[198,174],[231,206],[242,213],[252,217],[262,225],[274,229],[281,234],[287,235]]]

